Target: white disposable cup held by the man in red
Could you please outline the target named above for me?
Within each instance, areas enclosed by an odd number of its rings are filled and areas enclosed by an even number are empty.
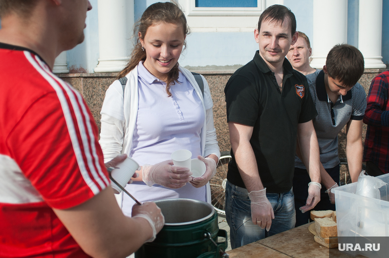
[[[122,163],[116,165],[115,169],[112,170],[111,176],[118,182],[122,187],[124,187],[132,176],[135,174],[135,171],[139,168],[139,164],[132,158],[126,158]],[[114,189],[115,193],[120,193],[121,189],[114,182],[111,182],[111,186]]]

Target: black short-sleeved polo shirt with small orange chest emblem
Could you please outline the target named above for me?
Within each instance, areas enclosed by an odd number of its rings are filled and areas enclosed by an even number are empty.
[[[274,73],[256,51],[253,60],[236,70],[226,84],[227,122],[253,126],[250,139],[258,171],[267,192],[292,188],[297,124],[316,115],[307,79],[284,63],[283,91]],[[236,161],[228,164],[227,179],[245,187]]]

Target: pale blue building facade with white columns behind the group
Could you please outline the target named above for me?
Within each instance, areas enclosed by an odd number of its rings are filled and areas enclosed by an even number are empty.
[[[165,1],[166,0],[162,0]],[[62,53],[58,72],[117,72],[132,49],[135,21],[157,0],[91,0],[85,41]],[[177,0],[191,34],[180,65],[197,71],[231,71],[250,61],[258,49],[253,37],[258,17],[273,4],[289,7],[297,30],[311,40],[312,66],[322,68],[329,50],[339,43],[357,47],[365,69],[389,63],[389,0]],[[65,67],[66,65],[66,67]]]

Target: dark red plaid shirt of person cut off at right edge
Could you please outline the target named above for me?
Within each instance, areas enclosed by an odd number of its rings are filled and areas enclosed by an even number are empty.
[[[388,99],[388,77],[382,73],[375,77],[370,85],[367,99],[366,111],[363,122],[372,126],[389,126]]]

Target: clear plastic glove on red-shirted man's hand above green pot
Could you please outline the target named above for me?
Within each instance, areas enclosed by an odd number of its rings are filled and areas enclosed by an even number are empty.
[[[148,221],[153,229],[153,237],[146,242],[153,242],[156,235],[161,231],[165,224],[165,218],[161,213],[161,209],[154,202],[145,202],[142,205],[135,204],[133,206],[133,218],[143,218]]]

